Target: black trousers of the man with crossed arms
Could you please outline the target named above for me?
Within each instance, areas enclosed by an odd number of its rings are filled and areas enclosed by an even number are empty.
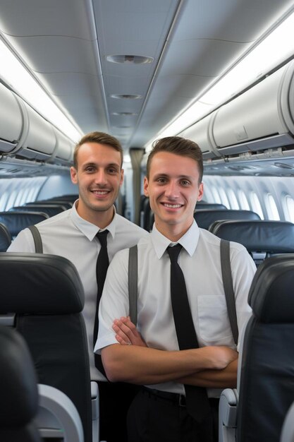
[[[217,442],[219,400],[209,400],[212,413],[198,424],[186,407],[142,388],[128,411],[128,442]]]

